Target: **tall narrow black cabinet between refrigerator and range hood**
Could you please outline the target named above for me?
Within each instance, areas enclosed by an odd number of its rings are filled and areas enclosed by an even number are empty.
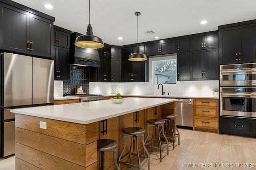
[[[60,35],[60,36],[59,36]],[[70,36],[71,31],[54,25],[54,37],[60,41],[54,42],[53,59],[54,59],[54,80],[70,79]],[[55,40],[56,40],[55,39]]]

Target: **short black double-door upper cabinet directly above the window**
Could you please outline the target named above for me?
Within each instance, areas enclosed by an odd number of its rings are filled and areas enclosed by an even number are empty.
[[[159,43],[147,44],[145,52],[147,56],[176,53],[176,40],[161,40]]]

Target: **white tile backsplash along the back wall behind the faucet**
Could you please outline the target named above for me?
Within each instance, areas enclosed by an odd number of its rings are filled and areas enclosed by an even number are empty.
[[[121,94],[158,94],[162,93],[162,86],[151,82],[90,82],[90,94],[111,94],[112,88]],[[218,80],[183,81],[176,84],[163,84],[163,91],[172,96],[211,96],[211,91],[219,91]]]

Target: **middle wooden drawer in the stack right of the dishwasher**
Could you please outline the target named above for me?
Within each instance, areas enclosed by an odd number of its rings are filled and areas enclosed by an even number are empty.
[[[218,117],[218,106],[194,106],[195,116]]]

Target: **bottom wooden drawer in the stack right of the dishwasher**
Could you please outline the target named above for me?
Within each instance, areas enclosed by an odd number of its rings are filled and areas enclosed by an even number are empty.
[[[195,127],[218,130],[218,118],[194,116]]]

